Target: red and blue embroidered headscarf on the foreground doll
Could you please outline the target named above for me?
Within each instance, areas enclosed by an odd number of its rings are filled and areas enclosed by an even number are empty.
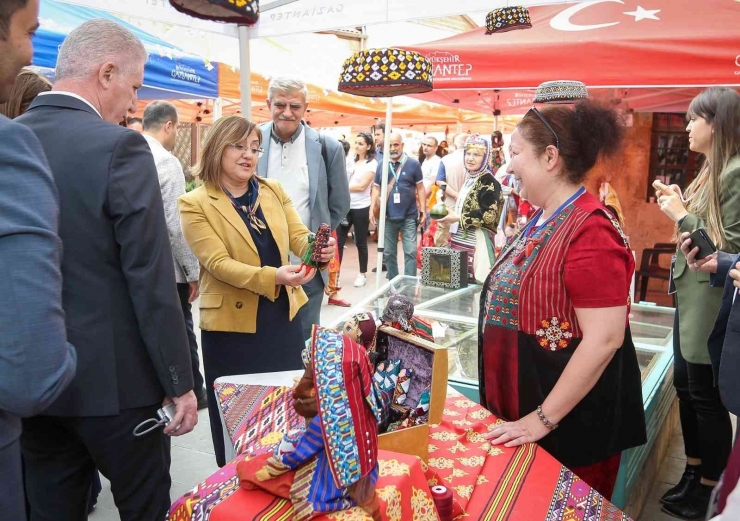
[[[339,331],[314,326],[314,386],[334,482],[348,487],[378,461],[378,408],[367,352]]]

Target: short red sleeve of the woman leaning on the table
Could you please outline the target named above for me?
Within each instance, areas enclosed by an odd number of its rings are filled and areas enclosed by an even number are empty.
[[[573,235],[565,256],[565,288],[576,308],[628,305],[634,260],[605,215],[591,215]]]

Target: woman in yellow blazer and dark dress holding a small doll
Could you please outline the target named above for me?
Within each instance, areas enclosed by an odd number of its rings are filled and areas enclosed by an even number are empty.
[[[198,257],[200,328],[211,436],[219,466],[226,464],[213,382],[232,374],[300,369],[301,286],[316,270],[291,266],[310,231],[279,182],[255,175],[262,134],[240,116],[208,132],[195,174],[203,185],[180,197],[182,231]],[[334,240],[322,251],[328,262]]]

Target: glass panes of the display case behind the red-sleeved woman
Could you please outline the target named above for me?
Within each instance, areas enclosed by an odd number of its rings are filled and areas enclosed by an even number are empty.
[[[435,342],[447,347],[450,384],[477,387],[481,291],[480,285],[458,290],[424,286],[416,277],[399,275],[348,311],[334,326],[343,324],[350,315],[361,311],[372,312],[379,317],[391,295],[405,295],[413,300],[414,313],[432,324]],[[650,304],[632,306],[630,329],[643,387],[651,381],[654,369],[665,366],[665,362],[672,359],[673,313],[673,308]],[[643,394],[647,398],[650,393]]]

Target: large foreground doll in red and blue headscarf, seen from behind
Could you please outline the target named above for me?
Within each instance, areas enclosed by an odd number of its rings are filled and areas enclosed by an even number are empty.
[[[380,411],[372,376],[363,346],[314,326],[310,363],[293,391],[306,430],[288,433],[272,455],[240,462],[242,488],[290,499],[297,521],[354,506],[380,521],[375,491]]]

